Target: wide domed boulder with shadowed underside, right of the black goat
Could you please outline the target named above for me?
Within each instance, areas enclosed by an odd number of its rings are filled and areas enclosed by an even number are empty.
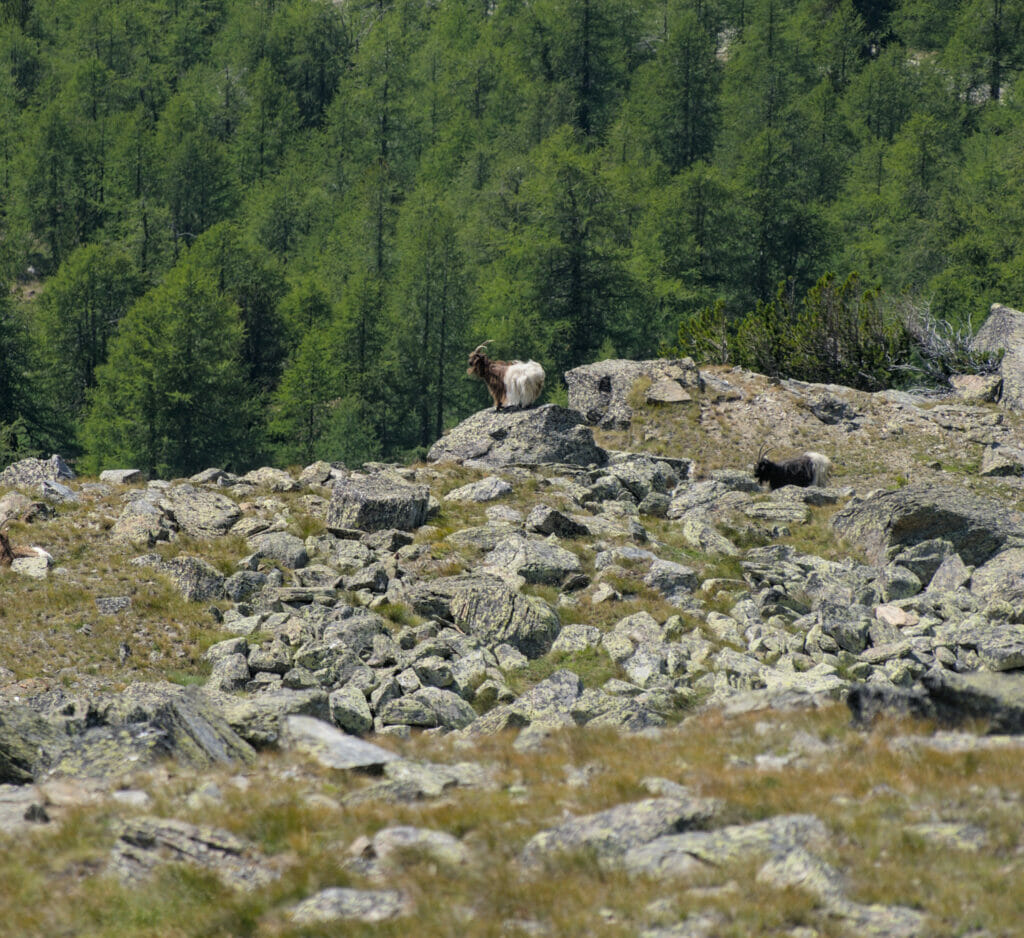
[[[886,492],[844,508],[833,526],[880,564],[904,548],[938,538],[950,542],[970,564],[1024,545],[1024,516],[963,486],[919,484]]]

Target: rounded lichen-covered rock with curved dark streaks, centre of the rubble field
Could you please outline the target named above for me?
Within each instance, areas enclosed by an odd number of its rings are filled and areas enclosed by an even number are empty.
[[[496,577],[476,578],[452,595],[456,626],[487,645],[506,642],[526,657],[540,657],[561,631],[558,614],[544,600],[513,592]]]

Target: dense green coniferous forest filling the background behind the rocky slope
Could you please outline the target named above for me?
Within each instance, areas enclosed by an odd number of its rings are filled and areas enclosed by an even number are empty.
[[[1024,0],[0,0],[0,459],[415,458],[487,339],[941,383],[1022,68]]]

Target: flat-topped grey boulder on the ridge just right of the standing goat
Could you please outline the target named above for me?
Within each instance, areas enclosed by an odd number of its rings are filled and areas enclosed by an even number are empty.
[[[610,359],[583,365],[565,373],[569,407],[583,414],[589,424],[604,429],[628,427],[633,408],[628,397],[637,381],[650,380],[657,400],[689,400],[685,389],[700,388],[700,374],[692,358],[655,358],[648,361]],[[668,394],[675,385],[680,393]]]

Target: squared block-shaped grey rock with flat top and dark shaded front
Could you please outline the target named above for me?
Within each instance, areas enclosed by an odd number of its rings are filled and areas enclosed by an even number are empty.
[[[341,479],[331,489],[328,530],[413,530],[427,520],[430,489],[389,473]]]

